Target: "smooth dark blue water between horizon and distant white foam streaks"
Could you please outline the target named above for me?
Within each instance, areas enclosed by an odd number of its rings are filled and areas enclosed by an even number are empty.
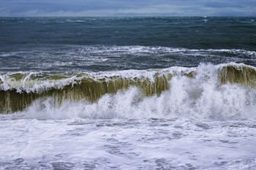
[[[55,45],[255,50],[255,19],[0,18],[0,50]]]

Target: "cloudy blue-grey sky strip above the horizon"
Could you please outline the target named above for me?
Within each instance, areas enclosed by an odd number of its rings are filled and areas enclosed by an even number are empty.
[[[14,16],[256,16],[256,0],[0,0]]]

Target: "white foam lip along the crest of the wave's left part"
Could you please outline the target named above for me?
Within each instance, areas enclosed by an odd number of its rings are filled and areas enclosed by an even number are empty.
[[[148,69],[148,70],[124,70],[117,72],[86,72],[82,77],[77,77],[78,74],[63,74],[64,76],[61,80],[50,80],[45,79],[44,73],[42,72],[7,72],[4,74],[0,74],[0,80],[3,82],[0,84],[1,90],[10,90],[15,89],[18,92],[21,90],[25,90],[26,92],[42,92],[44,90],[48,90],[50,88],[63,88],[65,85],[75,84],[78,80],[83,78],[92,78],[94,80],[105,78],[108,80],[110,77],[122,77],[122,78],[140,78],[140,79],[148,79],[154,81],[155,74],[181,74],[188,73],[195,70],[195,68],[184,68],[184,67],[171,67],[167,69]],[[23,78],[20,80],[15,80],[12,77],[13,74],[21,74]],[[48,74],[48,76],[53,76],[53,74]],[[36,80],[31,79],[31,77],[39,77],[41,78]]]

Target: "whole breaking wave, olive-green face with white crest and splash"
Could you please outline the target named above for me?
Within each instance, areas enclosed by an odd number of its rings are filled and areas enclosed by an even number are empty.
[[[17,72],[0,79],[1,113],[36,109],[59,118],[218,119],[246,117],[256,108],[256,69],[238,63],[80,74]]]

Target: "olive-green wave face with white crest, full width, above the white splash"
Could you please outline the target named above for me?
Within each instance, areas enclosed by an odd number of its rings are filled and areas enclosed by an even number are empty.
[[[202,69],[206,67],[207,69]],[[209,69],[210,68],[210,69]],[[97,102],[102,96],[115,95],[131,87],[140,90],[140,98],[161,96],[173,90],[173,77],[208,83],[217,86],[227,83],[256,88],[256,69],[244,64],[230,63],[197,68],[169,68],[151,71],[102,72],[94,74],[1,74],[0,112],[10,113],[26,109],[37,99],[53,98],[53,105],[63,101]],[[214,80],[212,80],[214,79]],[[187,81],[188,81],[187,80]],[[186,84],[189,88],[189,84]],[[200,95],[194,94],[194,95]],[[166,101],[168,102],[168,101]]]

